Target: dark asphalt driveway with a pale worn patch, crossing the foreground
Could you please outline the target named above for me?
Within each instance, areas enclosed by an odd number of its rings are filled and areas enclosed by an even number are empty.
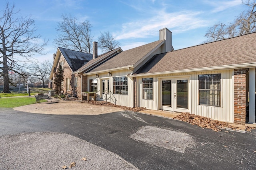
[[[1,108],[0,117],[2,137],[32,132],[64,133],[117,154],[143,170],[256,169],[255,130],[214,132],[132,111],[50,115]]]

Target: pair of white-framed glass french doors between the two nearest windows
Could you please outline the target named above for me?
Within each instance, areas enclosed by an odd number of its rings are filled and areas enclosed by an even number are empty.
[[[160,109],[168,111],[188,111],[188,78],[160,79]]]

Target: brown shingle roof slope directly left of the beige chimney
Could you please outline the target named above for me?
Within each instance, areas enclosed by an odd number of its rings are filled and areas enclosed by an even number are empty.
[[[142,45],[140,47],[136,47],[136,48],[118,53],[114,57],[110,58],[108,61],[100,64],[99,66],[97,66],[96,68],[90,71],[94,72],[94,71],[101,71],[101,70],[134,65],[163,41],[164,40],[155,41],[146,45]]]

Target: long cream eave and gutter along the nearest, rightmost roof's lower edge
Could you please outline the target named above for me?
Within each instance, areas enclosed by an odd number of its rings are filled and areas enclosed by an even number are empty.
[[[207,70],[226,70],[226,69],[232,69],[232,68],[234,69],[234,68],[250,68],[250,67],[256,67],[256,62],[244,63],[244,64],[232,64],[232,65],[225,65],[225,66],[191,68],[191,69],[173,70],[173,71],[165,71],[165,72],[141,73],[141,74],[133,74],[128,77],[151,76],[151,75],[160,75],[160,74],[176,74],[176,73],[198,72],[198,71],[207,71]]]

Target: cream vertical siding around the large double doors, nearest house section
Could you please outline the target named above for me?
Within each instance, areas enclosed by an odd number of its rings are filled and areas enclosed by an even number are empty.
[[[198,75],[200,74],[221,74],[221,106],[204,106],[198,104]],[[137,77],[137,95],[138,106],[146,107],[147,109],[159,110],[160,109],[160,87],[161,78],[190,78],[188,86],[191,91],[189,92],[189,112],[192,114],[209,117],[220,121],[234,121],[234,83],[233,83],[234,70],[215,70],[204,72],[191,72],[181,74],[162,74],[154,76]],[[142,99],[142,78],[153,78],[153,100]]]

